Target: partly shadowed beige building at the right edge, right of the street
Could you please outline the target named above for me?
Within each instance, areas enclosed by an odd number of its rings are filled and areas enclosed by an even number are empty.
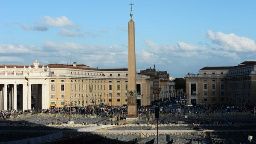
[[[186,98],[192,104],[256,104],[256,62],[204,67],[186,75]]]

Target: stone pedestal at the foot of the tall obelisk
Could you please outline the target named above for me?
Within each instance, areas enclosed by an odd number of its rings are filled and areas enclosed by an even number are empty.
[[[137,97],[136,96],[128,96],[128,115],[126,116],[126,120],[137,120]]]

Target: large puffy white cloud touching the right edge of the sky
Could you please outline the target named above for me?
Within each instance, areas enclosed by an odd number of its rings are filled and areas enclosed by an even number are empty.
[[[213,33],[211,30],[208,30],[205,37],[209,38],[212,43],[218,45],[217,48],[223,48],[225,51],[256,51],[254,40],[247,37],[239,37],[233,33],[224,34],[221,31]]]

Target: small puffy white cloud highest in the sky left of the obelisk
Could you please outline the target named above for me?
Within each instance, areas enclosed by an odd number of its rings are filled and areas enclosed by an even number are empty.
[[[55,17],[55,19],[50,16],[44,16],[44,20],[50,27],[67,27],[74,25],[74,23],[65,16]]]

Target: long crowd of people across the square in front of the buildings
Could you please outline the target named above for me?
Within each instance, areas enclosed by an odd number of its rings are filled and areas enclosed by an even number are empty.
[[[70,110],[71,109],[71,110]],[[182,111],[181,111],[182,110]],[[216,105],[198,105],[194,107],[160,107],[160,113],[179,115],[180,113],[226,113],[226,112],[242,112],[251,110],[256,112],[256,106],[216,106]],[[12,116],[19,116],[23,113],[60,113],[60,114],[96,114],[106,115],[115,114],[123,115],[127,114],[127,106],[85,106],[85,107],[49,107],[48,109],[32,109],[32,110],[0,110],[0,118],[11,119]],[[154,107],[150,106],[138,106],[137,114],[153,114]]]

